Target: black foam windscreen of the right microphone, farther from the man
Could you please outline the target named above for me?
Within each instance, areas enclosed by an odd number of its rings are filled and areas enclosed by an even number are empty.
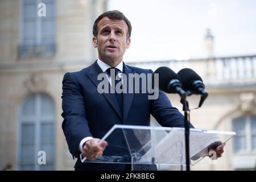
[[[187,91],[191,88],[191,84],[193,81],[200,80],[203,82],[202,78],[199,75],[197,75],[197,73],[190,68],[181,69],[177,73],[177,75],[180,77],[182,88],[185,91]]]

